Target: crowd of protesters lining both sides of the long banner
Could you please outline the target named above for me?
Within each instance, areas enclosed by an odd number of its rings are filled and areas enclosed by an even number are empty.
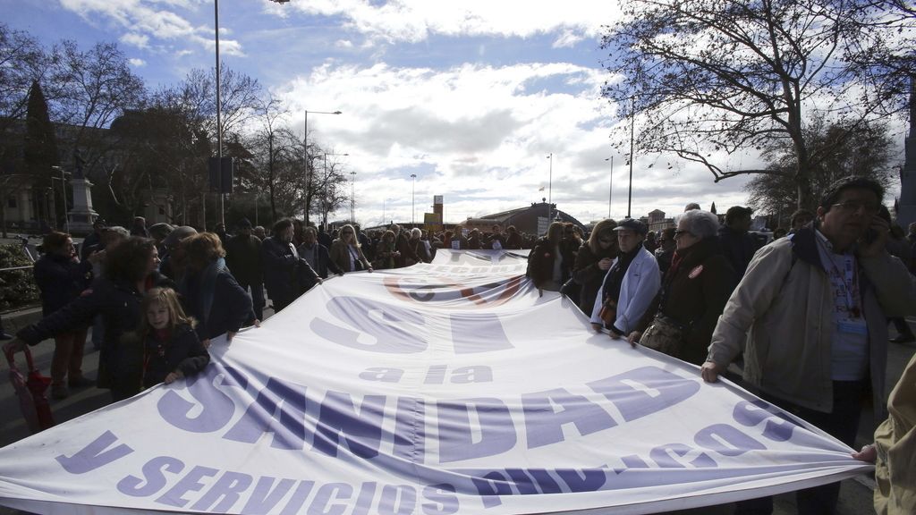
[[[231,340],[263,319],[265,290],[279,312],[330,275],[429,263],[441,248],[530,248],[527,275],[540,294],[568,296],[595,331],[702,367],[710,382],[736,363],[749,389],[851,446],[864,397],[885,416],[889,321],[898,332],[890,341],[914,340],[904,317],[916,314],[916,224],[909,235],[891,225],[883,196],[875,181],[837,181],[815,212],[793,214],[791,227],[765,246],[749,234],[750,209],[732,207],[720,224],[696,204],[658,234],[636,219],[607,219],[588,235],[553,223],[540,238],[499,225],[435,234],[344,225],[329,233],[282,219],[267,236],[245,219],[234,235],[222,225],[213,233],[147,228],[139,217],[128,231],[100,219],[80,252],[70,235],[45,236],[34,272],[44,318],[7,349],[54,338],[51,389],[62,399],[92,384],[82,376],[92,326],[96,384],[123,400],[202,370],[213,338]],[[895,422],[878,439],[878,495],[896,495],[894,502],[903,494],[892,470],[916,453],[914,400],[906,389],[895,394]],[[874,460],[872,451],[856,457]],[[889,461],[901,455],[902,465]],[[907,495],[902,502],[911,506]],[[832,513],[837,496],[836,484],[803,490],[799,510]],[[736,508],[771,511],[771,499]]]

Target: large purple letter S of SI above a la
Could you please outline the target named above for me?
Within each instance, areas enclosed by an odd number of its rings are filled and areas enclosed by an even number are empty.
[[[417,330],[424,323],[419,312],[359,297],[334,297],[328,311],[350,327],[320,317],[313,318],[310,327],[333,344],[383,354],[415,354],[427,348],[424,332]],[[361,335],[376,343],[360,343]]]

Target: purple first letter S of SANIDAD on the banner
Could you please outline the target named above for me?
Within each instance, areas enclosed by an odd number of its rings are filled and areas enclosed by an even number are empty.
[[[211,363],[202,374],[188,379],[188,391],[197,402],[184,400],[178,392],[169,389],[158,400],[159,416],[172,426],[191,433],[213,433],[222,429],[232,420],[235,403],[223,391],[213,388],[213,380],[220,374],[224,374],[222,385],[245,389],[247,381],[244,376],[232,367]],[[201,412],[189,418],[188,414],[198,407],[202,408]]]

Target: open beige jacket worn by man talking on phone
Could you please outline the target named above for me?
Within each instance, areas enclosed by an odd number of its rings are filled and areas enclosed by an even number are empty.
[[[805,228],[758,250],[716,323],[708,360],[727,366],[747,337],[745,380],[780,399],[831,412],[833,296],[814,237]],[[885,417],[888,317],[916,311],[916,280],[886,252],[858,263],[880,420]]]

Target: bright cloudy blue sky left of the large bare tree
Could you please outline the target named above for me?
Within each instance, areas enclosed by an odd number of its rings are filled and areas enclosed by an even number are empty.
[[[212,0],[0,6],[10,27],[46,45],[117,41],[151,88],[213,66]],[[386,219],[409,221],[412,202],[421,220],[433,195],[444,196],[448,222],[549,194],[589,222],[608,214],[609,196],[612,216],[627,214],[627,158],[610,139],[622,122],[600,95],[613,80],[601,67],[601,26],[617,10],[581,0],[223,0],[220,49],[227,66],[282,99],[290,124],[301,132],[313,112],[310,138],[349,154],[338,159],[356,172],[365,225],[380,223],[383,208]],[[638,156],[632,214],[679,213],[688,202],[721,211],[746,202],[745,181],[714,183],[670,157]]]

